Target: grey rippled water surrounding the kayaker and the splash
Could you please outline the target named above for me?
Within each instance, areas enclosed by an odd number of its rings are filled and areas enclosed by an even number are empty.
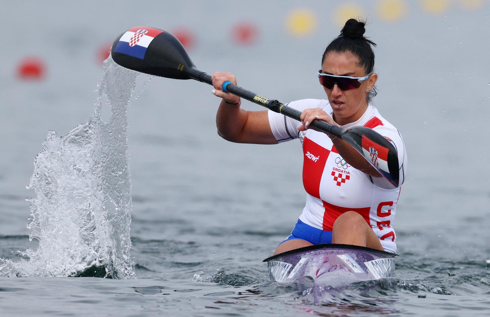
[[[399,128],[409,155],[394,224],[394,280],[352,285],[321,306],[303,302],[291,285],[271,283],[262,259],[304,206],[299,143],[228,143],[216,134],[210,86],[154,78],[127,110],[137,279],[0,277],[1,315],[488,316],[490,7],[484,1],[469,11],[449,2],[436,16],[414,2],[394,23],[356,2],[378,43],[375,105]],[[149,3],[137,12],[129,2],[7,7],[4,28],[24,23],[0,65],[0,257],[18,261],[17,250],[37,247],[25,228],[33,157],[48,130],[65,135],[91,116],[102,77],[95,50],[133,25],[186,25],[196,35],[189,53],[199,68],[233,71],[239,85],[264,96],[324,98],[315,72],[338,33],[329,20],[337,6],[310,3],[323,17],[319,31],[296,39],[284,31],[295,2],[261,3],[273,12],[268,19],[254,3]],[[53,16],[54,6],[64,14]],[[175,14],[182,6],[193,18],[185,23]],[[213,23],[202,25],[203,15],[224,25],[252,21],[259,41],[232,45]],[[15,79],[15,63],[27,53],[47,60],[45,81]],[[137,78],[138,93],[146,80]]]

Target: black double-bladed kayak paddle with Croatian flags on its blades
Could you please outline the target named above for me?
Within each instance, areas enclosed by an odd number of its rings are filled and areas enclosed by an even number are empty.
[[[146,26],[130,28],[116,38],[111,55],[119,65],[145,74],[172,79],[194,79],[213,85],[211,75],[198,70],[179,40],[164,30]],[[301,111],[285,106],[275,99],[257,95],[230,82],[225,82],[222,90],[300,121]],[[310,126],[350,144],[394,187],[398,187],[398,155],[393,145],[381,134],[368,127],[342,129],[320,120],[314,120]]]

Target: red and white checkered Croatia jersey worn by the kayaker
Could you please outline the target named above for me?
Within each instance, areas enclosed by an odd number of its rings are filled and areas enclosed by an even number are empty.
[[[330,116],[333,112],[328,100],[304,99],[288,106],[299,111],[321,108]],[[303,186],[307,196],[299,220],[332,231],[337,217],[345,211],[356,211],[376,233],[385,251],[396,252],[396,234],[392,225],[407,166],[405,145],[398,130],[371,105],[359,120],[340,126],[344,129],[369,127],[393,144],[398,153],[400,186],[390,188],[384,178],[371,177],[347,164],[325,133],[312,129],[298,131],[299,121],[270,110],[269,123],[278,142],[299,138],[303,145]]]

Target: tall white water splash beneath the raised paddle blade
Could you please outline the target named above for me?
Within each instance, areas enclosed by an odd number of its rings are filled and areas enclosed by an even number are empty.
[[[38,248],[19,251],[20,261],[1,260],[0,275],[76,276],[103,268],[105,277],[135,277],[126,108],[137,75],[109,57],[94,115],[66,136],[48,132],[27,186],[36,193],[27,199],[27,228]],[[101,118],[105,97],[112,112],[107,122]]]

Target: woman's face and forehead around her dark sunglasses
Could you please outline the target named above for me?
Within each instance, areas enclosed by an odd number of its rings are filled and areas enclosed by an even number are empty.
[[[335,76],[364,77],[366,71],[359,66],[359,58],[351,52],[330,52],[325,56],[321,70]],[[368,107],[368,91],[374,86],[378,74],[372,74],[359,88],[341,90],[337,84],[332,89],[323,87],[334,113],[334,120],[343,126],[357,121]]]

